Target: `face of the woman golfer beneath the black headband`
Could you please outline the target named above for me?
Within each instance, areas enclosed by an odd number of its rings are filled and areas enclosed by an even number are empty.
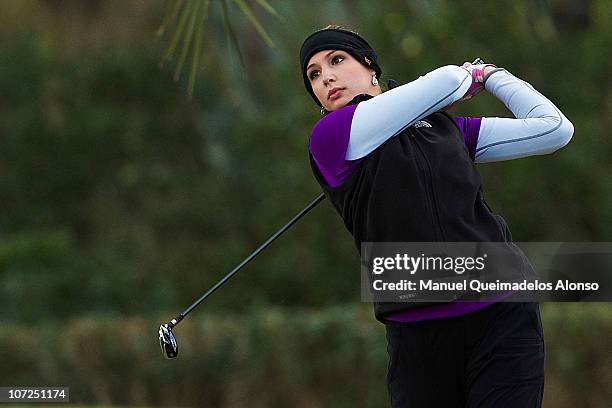
[[[359,63],[342,50],[323,50],[314,54],[306,66],[306,75],[314,94],[328,111],[346,106],[355,96],[381,93],[372,85],[375,71]]]

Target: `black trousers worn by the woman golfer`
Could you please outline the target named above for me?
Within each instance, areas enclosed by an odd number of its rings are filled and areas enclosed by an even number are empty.
[[[394,408],[535,408],[544,392],[537,302],[500,302],[465,316],[385,323]]]

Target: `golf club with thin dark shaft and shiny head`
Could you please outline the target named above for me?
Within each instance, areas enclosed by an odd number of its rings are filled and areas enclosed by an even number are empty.
[[[317,204],[319,204],[325,198],[325,194],[321,193],[315,198],[310,204],[308,204],[302,211],[300,211],[295,217],[293,217],[287,224],[281,229],[276,231],[266,242],[261,244],[251,255],[249,255],[244,261],[236,266],[232,271],[225,275],[219,282],[217,282],[212,288],[204,293],[198,300],[196,300],[191,306],[179,313],[174,319],[170,320],[166,324],[159,326],[159,345],[162,349],[162,353],[167,358],[174,358],[178,355],[178,343],[176,337],[172,333],[172,329],[181,322],[193,309],[198,307],[200,303],[210,296],[215,290],[219,289],[225,282],[227,282],[232,276],[234,276],[243,266],[248,264],[253,258],[255,258],[261,251],[266,249],[276,238],[282,235],[289,227],[295,224],[300,218],[302,218],[308,211],[312,210]]]

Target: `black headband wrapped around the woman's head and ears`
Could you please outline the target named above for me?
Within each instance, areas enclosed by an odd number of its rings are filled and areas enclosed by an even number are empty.
[[[353,32],[342,29],[326,28],[315,31],[309,35],[302,44],[302,49],[300,50],[300,66],[302,68],[302,77],[306,90],[319,106],[321,102],[319,102],[319,99],[312,90],[312,86],[310,86],[306,68],[310,57],[322,50],[346,51],[366,67],[372,68],[376,72],[376,77],[380,78],[382,70],[376,61],[376,53],[366,40]]]

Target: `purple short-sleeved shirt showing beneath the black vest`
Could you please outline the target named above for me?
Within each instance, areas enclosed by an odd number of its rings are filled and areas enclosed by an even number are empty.
[[[327,115],[319,120],[312,130],[308,149],[319,172],[331,187],[341,185],[363,160],[363,158],[345,160],[351,122],[356,108],[357,105],[349,105],[339,109],[333,115]],[[474,160],[482,118],[454,116],[453,120],[461,130],[469,155]],[[496,302],[452,302],[436,305],[424,303],[422,307],[394,313],[387,316],[386,319],[398,322],[417,322],[455,317],[484,309],[494,303]]]

